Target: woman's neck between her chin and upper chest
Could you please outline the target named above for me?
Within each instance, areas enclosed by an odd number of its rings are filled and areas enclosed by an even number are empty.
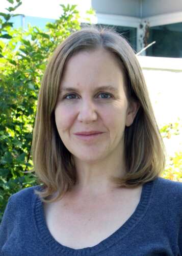
[[[125,174],[124,158],[107,157],[99,162],[83,162],[74,158],[77,182],[74,186],[77,193],[90,195],[109,193],[116,188],[112,177],[123,177]]]

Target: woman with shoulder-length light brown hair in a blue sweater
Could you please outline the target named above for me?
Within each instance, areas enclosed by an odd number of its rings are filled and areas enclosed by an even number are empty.
[[[159,177],[163,142],[122,36],[88,27],[56,49],[32,153],[42,185],[10,197],[2,255],[182,255],[182,184]]]

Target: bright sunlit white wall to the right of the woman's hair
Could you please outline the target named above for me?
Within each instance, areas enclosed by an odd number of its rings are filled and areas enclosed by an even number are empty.
[[[175,122],[182,125],[182,58],[138,56],[138,60],[159,127]],[[164,142],[168,156],[182,151],[182,127],[179,135]]]

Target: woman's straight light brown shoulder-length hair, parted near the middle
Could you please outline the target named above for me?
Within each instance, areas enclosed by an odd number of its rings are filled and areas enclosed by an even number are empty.
[[[140,108],[124,131],[126,174],[113,178],[118,186],[136,187],[159,176],[165,167],[165,147],[155,121],[147,87],[137,57],[128,42],[111,29],[89,26],[68,36],[55,50],[45,70],[38,96],[32,155],[38,182],[36,190],[45,203],[54,202],[74,186],[76,169],[56,127],[55,106],[64,67],[73,54],[98,48],[112,52],[126,78],[126,95]],[[57,193],[54,198],[49,196]]]

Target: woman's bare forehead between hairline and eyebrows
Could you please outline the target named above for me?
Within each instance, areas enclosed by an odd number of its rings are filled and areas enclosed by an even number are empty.
[[[71,56],[63,69],[63,80],[105,79],[113,80],[123,76],[121,62],[106,49],[81,50]]]

